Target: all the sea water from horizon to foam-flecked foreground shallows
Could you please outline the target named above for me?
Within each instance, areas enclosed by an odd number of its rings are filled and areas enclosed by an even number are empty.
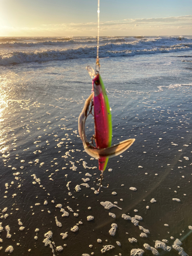
[[[0,38],[1,255],[192,254],[192,36],[101,37],[112,143],[136,140],[98,195],[78,136],[96,41]]]

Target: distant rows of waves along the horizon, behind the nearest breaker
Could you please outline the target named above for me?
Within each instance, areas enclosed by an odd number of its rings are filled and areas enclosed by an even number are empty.
[[[10,50],[14,48],[30,48],[30,47],[69,47],[75,45],[91,45],[97,44],[96,37],[20,37],[8,38],[0,37],[0,48]],[[167,48],[172,45],[183,44],[185,46],[192,46],[191,37],[144,37],[144,36],[113,36],[113,37],[100,37],[100,47],[103,45],[111,44],[111,47],[163,47]]]

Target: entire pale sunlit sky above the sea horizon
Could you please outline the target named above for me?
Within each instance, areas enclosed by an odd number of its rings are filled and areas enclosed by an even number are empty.
[[[191,34],[191,0],[100,0],[101,36]],[[0,37],[96,35],[97,0],[0,0]]]

